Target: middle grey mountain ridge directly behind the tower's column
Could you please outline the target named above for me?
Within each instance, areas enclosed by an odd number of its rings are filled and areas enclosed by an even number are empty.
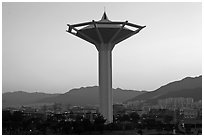
[[[113,102],[122,103],[123,101],[130,99],[133,96],[138,96],[143,94],[143,91],[134,90],[122,90],[113,89]],[[44,98],[38,100],[38,102],[58,102],[62,104],[72,104],[72,105],[97,105],[99,104],[99,89],[95,87],[86,87],[79,89],[72,89],[65,94],[61,94],[52,98]]]

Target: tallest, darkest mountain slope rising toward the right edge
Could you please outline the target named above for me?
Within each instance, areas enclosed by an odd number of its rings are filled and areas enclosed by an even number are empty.
[[[170,97],[192,97],[194,100],[202,99],[202,76],[195,78],[187,77],[180,81],[171,82],[155,91],[147,92],[127,101],[147,100],[155,102],[158,99]]]

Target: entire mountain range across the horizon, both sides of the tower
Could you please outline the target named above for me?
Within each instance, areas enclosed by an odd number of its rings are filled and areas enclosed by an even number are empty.
[[[194,100],[202,99],[202,76],[195,78],[187,77],[180,81],[171,82],[151,92],[113,89],[114,103],[133,100],[156,102],[158,99],[170,97],[192,97]],[[94,86],[72,89],[64,94],[17,91],[3,93],[2,95],[2,106],[54,102],[71,105],[97,105],[99,103],[99,89],[97,86]]]

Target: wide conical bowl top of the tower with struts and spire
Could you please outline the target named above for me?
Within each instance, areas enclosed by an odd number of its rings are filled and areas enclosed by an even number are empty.
[[[74,25],[68,25],[67,32],[74,34],[94,45],[98,44],[117,44],[128,37],[138,33],[145,26],[139,26],[128,21],[113,22],[110,21],[104,12],[101,20],[92,21]],[[129,29],[129,27],[135,30]],[[80,29],[79,29],[80,27]]]

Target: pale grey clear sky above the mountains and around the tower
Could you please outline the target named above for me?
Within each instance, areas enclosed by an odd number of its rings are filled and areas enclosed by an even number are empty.
[[[3,3],[2,91],[64,93],[98,85],[94,45],[66,24],[100,20],[147,27],[112,52],[113,88],[154,90],[202,73],[201,3]]]

